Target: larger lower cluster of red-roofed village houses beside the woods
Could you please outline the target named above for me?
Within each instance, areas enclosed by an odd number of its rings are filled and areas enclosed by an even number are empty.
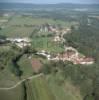
[[[86,57],[80,54],[78,51],[75,51],[74,48],[67,47],[67,50],[62,54],[51,55],[50,53],[42,50],[38,52],[38,55],[45,56],[49,61],[70,61],[73,64],[81,64],[81,65],[91,65],[94,63],[94,59],[91,57]]]

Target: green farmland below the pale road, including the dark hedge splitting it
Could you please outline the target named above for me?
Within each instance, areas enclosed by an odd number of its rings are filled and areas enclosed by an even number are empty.
[[[0,89],[0,98],[3,100],[24,100],[24,97],[26,100],[55,100],[43,75],[27,79],[12,89]]]

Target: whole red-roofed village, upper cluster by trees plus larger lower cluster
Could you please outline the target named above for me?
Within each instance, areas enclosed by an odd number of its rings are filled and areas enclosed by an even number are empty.
[[[63,30],[58,30],[55,27],[52,27],[51,25],[49,27],[43,27],[45,29],[45,31],[51,31],[51,32],[55,32],[55,36],[53,41],[54,42],[65,42],[64,39],[64,34],[68,34],[70,33],[71,29],[70,28],[66,28]],[[43,29],[41,29],[43,31]],[[61,33],[61,34],[60,34]],[[64,45],[64,49],[65,51],[62,54],[56,54],[56,55],[51,55],[50,53],[48,53],[45,50],[42,50],[41,52],[38,52],[38,55],[43,55],[45,56],[48,60],[53,60],[53,61],[70,61],[73,64],[82,64],[82,65],[91,65],[94,63],[94,59],[92,57],[86,57],[83,54],[80,54],[75,48],[73,47],[68,47],[66,45]]]

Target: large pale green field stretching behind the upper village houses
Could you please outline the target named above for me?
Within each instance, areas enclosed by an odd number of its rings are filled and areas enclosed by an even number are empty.
[[[23,17],[21,15],[15,15],[3,25],[3,29],[0,30],[0,34],[7,37],[28,37],[35,29],[35,26],[42,24],[54,24],[62,25],[63,27],[71,26],[75,22],[64,22],[61,20],[53,20],[49,18],[35,18],[32,16]]]

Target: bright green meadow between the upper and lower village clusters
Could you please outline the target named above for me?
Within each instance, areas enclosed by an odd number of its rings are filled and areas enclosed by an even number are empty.
[[[48,37],[33,38],[32,46],[37,50],[46,50],[54,53],[62,52],[64,50],[60,43],[55,43],[53,38]]]

